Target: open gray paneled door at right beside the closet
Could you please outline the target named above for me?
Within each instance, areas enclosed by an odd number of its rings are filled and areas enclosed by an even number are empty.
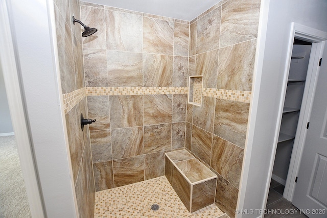
[[[327,217],[327,48],[320,67],[293,205],[307,216]]]

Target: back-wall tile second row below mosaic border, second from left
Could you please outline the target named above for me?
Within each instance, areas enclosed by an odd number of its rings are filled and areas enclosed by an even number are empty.
[[[114,160],[142,155],[143,127],[111,130],[112,158]]]

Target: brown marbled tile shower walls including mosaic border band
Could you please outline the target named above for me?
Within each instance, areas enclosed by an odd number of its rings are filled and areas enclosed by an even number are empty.
[[[95,191],[165,175],[190,151],[218,176],[216,205],[235,216],[260,0],[223,0],[192,21],[55,1],[60,79],[81,217]],[[98,32],[81,38],[80,18]],[[188,104],[203,76],[202,104]],[[96,118],[82,132],[80,115]]]

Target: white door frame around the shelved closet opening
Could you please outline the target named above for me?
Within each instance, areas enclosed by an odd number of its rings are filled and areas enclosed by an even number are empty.
[[[307,74],[307,80],[306,80],[306,87],[303,92],[303,100],[301,104],[300,109],[300,116],[298,120],[298,126],[296,130],[296,135],[294,139],[293,144],[293,150],[292,150],[292,156],[290,160],[288,175],[286,179],[286,185],[284,189],[284,195],[283,197],[286,198],[288,201],[293,200],[294,196],[294,190],[295,190],[295,178],[298,174],[299,165],[302,157],[303,152],[303,146],[306,140],[307,136],[307,123],[310,120],[312,105],[313,105],[313,99],[315,95],[317,80],[319,76],[319,70],[318,62],[319,59],[322,57],[322,53],[324,50],[325,40],[327,40],[327,33],[322,32],[310,27],[306,27],[303,25],[299,25],[298,23],[292,22],[291,23],[291,33],[289,37],[289,43],[288,43],[288,51],[287,51],[287,61],[286,61],[286,67],[284,72],[284,78],[283,78],[283,90],[282,90],[282,104],[279,108],[278,113],[278,122],[281,123],[282,115],[283,115],[283,106],[284,106],[284,100],[285,100],[285,94],[286,94],[286,87],[287,87],[287,80],[289,75],[289,69],[291,64],[291,56],[292,56],[292,50],[293,50],[293,41],[294,38],[303,40],[303,41],[309,41],[312,42],[311,47],[311,53],[310,53],[310,59],[309,59],[309,65],[308,65],[308,74]],[[278,131],[276,131],[276,137],[278,138]],[[275,144],[275,149],[277,148],[277,144]],[[272,174],[273,169],[273,162],[270,165],[270,170]],[[270,181],[269,181],[270,182]],[[269,186],[268,186],[269,187]]]

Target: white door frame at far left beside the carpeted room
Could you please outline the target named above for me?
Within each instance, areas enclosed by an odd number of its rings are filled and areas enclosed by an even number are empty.
[[[6,0],[0,0],[0,26],[3,28],[2,37],[0,37],[0,47],[2,49],[0,52],[1,67],[29,206],[32,217],[45,217],[32,142],[29,137],[23,89],[20,86],[19,73],[16,67],[15,50]]]

